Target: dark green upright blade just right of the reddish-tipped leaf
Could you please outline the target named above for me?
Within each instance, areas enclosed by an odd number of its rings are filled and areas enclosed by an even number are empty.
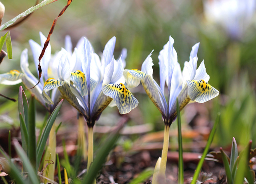
[[[36,167],[36,104],[34,96],[31,96],[28,110],[28,158]]]

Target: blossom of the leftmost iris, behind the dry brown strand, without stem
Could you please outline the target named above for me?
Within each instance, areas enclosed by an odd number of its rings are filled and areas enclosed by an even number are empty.
[[[46,37],[40,32],[40,40],[41,44],[36,43],[34,40],[29,40],[30,48],[32,50],[32,55],[34,58],[34,64],[37,68],[38,65],[38,58],[44,46],[44,42],[46,41]],[[68,43],[66,43],[68,45]],[[44,87],[44,81],[48,78],[48,76],[52,75],[52,68],[49,66],[49,62],[51,60],[51,46],[50,44],[46,48],[45,54],[42,58],[41,65],[42,65],[42,78],[37,86],[38,79],[30,72],[29,64],[28,64],[28,49],[22,51],[20,56],[20,68],[22,72],[18,70],[11,70],[8,73],[0,74],[0,84],[5,85],[15,85],[23,82],[26,88],[34,88],[30,89],[30,93],[34,94],[36,100],[40,102],[50,113],[54,110],[54,107],[60,102],[60,93],[56,90],[52,93],[52,101],[54,105],[47,105],[44,101],[42,96],[42,90]],[[38,72],[38,71],[37,71]]]

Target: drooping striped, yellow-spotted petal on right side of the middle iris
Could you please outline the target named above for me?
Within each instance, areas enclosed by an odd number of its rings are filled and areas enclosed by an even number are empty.
[[[138,105],[138,100],[132,95],[124,84],[106,84],[103,93],[113,98],[120,114],[126,114]]]

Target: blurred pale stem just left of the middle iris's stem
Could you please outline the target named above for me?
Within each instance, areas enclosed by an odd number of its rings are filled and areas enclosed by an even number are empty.
[[[79,116],[78,118],[78,147],[82,152],[82,156],[84,160],[87,159],[87,143],[86,137],[84,134],[84,118],[83,116]]]

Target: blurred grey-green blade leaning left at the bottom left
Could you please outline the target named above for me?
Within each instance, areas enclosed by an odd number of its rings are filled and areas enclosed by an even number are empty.
[[[14,148],[18,155],[20,156],[21,160],[23,161],[23,166],[26,168],[26,171],[28,172],[28,178],[30,178],[32,184],[40,184],[38,177],[37,177],[37,171],[34,169],[32,164],[30,163],[30,160],[26,156],[26,153],[20,146],[18,140],[13,140]]]

